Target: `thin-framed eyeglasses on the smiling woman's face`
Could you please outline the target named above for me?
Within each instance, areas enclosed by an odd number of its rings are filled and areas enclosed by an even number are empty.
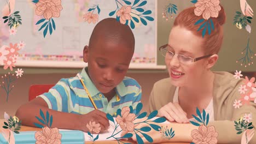
[[[170,47],[168,44],[159,47],[159,50],[160,50],[162,56],[164,56],[166,58],[170,58],[170,59],[173,58],[173,56],[177,56],[179,62],[181,62],[183,64],[193,63],[193,62],[199,61],[200,59],[207,58],[207,57],[210,57],[213,55],[213,54],[210,54],[210,55],[206,55],[206,56],[202,56],[202,57],[192,58],[192,57],[185,56],[185,55],[174,54],[173,52],[168,50],[168,47]]]

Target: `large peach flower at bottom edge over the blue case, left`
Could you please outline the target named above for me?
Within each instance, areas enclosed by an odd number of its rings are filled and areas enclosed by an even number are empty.
[[[42,131],[37,131],[34,134],[36,144],[59,144],[61,143],[61,134],[57,128],[44,127]]]

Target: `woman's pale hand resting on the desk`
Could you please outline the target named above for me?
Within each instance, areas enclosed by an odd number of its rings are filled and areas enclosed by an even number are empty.
[[[182,110],[182,107],[178,103],[168,103],[158,110],[159,117],[166,117],[170,122],[189,123],[187,113]]]

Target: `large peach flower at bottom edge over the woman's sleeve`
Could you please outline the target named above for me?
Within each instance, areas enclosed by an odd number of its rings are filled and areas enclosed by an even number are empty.
[[[214,126],[206,127],[205,125],[200,125],[199,130],[194,129],[191,131],[191,136],[195,144],[214,144],[217,143],[218,133]]]

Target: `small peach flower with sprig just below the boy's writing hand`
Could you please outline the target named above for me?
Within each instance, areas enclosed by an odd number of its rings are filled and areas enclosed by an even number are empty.
[[[91,141],[96,141],[98,139],[98,133],[101,131],[101,125],[99,123],[96,124],[95,122],[90,121],[89,124],[86,124],[86,127],[89,129],[87,133],[90,136]],[[94,134],[98,135],[94,138]]]

